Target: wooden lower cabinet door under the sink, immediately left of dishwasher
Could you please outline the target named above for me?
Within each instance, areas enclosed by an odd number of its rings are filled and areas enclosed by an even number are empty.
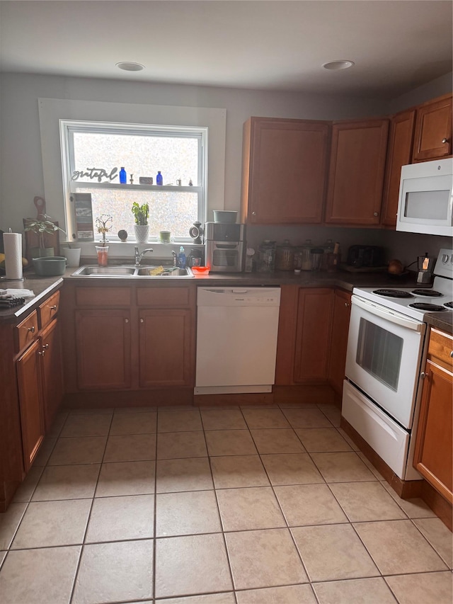
[[[193,314],[188,309],[139,312],[139,385],[193,386]]]

